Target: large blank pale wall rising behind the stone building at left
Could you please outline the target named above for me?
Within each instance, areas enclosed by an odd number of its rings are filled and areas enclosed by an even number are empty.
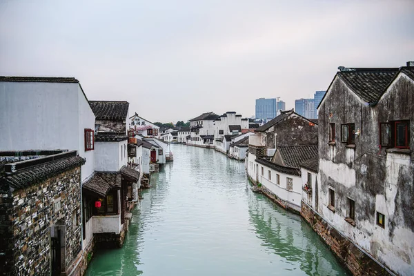
[[[95,115],[79,83],[0,81],[0,110],[0,150],[77,150],[82,181],[92,175],[84,130],[95,129]]]

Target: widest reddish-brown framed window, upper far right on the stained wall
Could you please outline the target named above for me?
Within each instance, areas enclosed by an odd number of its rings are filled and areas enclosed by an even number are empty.
[[[409,126],[410,121],[380,123],[380,145],[386,148],[410,148]]]

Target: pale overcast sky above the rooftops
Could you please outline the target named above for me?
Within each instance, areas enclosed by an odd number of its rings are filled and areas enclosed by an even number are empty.
[[[0,1],[0,75],[75,77],[150,121],[255,114],[326,90],[338,66],[414,60],[414,1]]]

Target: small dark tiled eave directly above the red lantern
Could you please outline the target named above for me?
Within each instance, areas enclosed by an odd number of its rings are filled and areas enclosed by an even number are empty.
[[[82,187],[98,195],[105,196],[113,188],[121,188],[121,173],[95,172],[95,175],[86,181]]]

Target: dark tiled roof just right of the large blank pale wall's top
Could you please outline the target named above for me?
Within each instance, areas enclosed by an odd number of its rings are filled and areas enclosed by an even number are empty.
[[[123,120],[128,115],[128,101],[89,101],[97,119]]]

